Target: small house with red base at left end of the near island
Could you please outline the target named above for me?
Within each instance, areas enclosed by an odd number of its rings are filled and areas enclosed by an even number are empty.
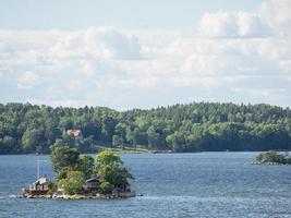
[[[22,194],[24,196],[29,195],[45,195],[48,193],[48,182],[49,180],[46,177],[39,178],[37,181],[35,181],[29,189],[22,189]]]

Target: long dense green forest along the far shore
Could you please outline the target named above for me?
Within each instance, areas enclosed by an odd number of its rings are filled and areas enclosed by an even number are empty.
[[[74,129],[84,140],[66,134]],[[0,104],[0,154],[46,154],[59,138],[82,153],[95,153],[97,145],[173,152],[287,150],[291,111],[264,104],[194,102],[124,112]]]

